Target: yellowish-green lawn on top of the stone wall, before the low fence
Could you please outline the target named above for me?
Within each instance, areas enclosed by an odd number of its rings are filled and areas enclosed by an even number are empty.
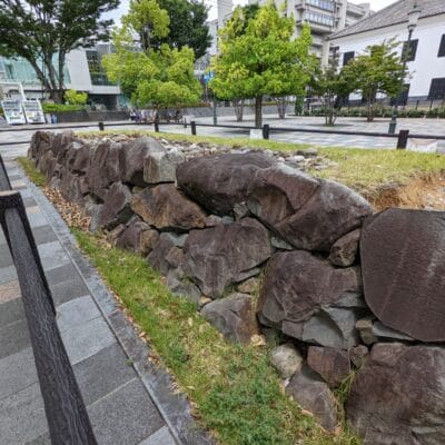
[[[314,176],[337,180],[367,198],[374,198],[387,186],[400,186],[416,177],[428,177],[445,174],[445,157],[435,154],[418,154],[406,150],[374,150],[342,147],[317,147],[308,144],[288,144],[275,140],[250,140],[237,138],[217,138],[185,136],[174,134],[155,134],[152,131],[108,131],[82,132],[79,136],[97,137],[103,135],[148,135],[170,141],[196,144],[215,144],[227,147],[250,147],[275,151],[296,151],[309,147],[317,148],[320,156],[335,162],[334,166],[310,172]]]

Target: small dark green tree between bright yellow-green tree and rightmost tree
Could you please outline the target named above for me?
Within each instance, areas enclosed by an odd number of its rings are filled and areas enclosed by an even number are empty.
[[[337,119],[343,99],[354,90],[354,85],[350,85],[345,71],[338,68],[338,57],[334,56],[328,66],[315,69],[310,89],[323,103],[326,125],[332,126]]]

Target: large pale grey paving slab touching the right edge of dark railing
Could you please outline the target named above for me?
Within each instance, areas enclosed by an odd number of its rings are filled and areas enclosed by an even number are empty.
[[[81,362],[116,343],[107,323],[97,318],[61,333],[71,364]]]

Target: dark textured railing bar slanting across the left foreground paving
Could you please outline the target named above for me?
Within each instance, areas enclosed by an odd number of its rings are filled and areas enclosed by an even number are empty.
[[[97,445],[19,192],[0,192],[0,224],[17,269],[51,443]]]

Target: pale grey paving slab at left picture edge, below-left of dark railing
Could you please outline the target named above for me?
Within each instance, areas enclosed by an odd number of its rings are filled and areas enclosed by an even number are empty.
[[[31,347],[0,360],[0,400],[36,382],[37,369]]]

